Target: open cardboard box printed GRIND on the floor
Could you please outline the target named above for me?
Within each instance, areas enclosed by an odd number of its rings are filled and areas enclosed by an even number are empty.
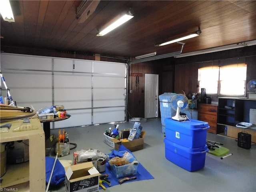
[[[92,162],[72,165],[65,168],[66,192],[98,192],[100,173]]]

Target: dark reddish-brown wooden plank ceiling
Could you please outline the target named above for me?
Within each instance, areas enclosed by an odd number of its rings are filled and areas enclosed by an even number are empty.
[[[180,51],[174,43],[154,44],[190,34],[183,53],[256,39],[256,1],[106,1],[83,22],[76,19],[76,0],[11,1],[15,22],[1,17],[1,51],[4,46],[69,51],[134,58]],[[134,18],[105,36],[98,29],[131,8]]]

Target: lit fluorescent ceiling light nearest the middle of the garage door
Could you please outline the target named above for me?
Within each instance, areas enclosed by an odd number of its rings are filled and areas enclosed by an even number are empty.
[[[97,36],[106,35],[108,32],[110,32],[110,31],[114,30],[115,28],[117,28],[118,26],[124,24],[125,22],[127,22],[128,20],[130,20],[133,17],[134,16],[130,12],[128,14],[122,14],[122,15],[117,16],[116,18],[114,18],[113,20],[108,22],[108,24],[105,25],[106,27],[104,27],[97,34]]]

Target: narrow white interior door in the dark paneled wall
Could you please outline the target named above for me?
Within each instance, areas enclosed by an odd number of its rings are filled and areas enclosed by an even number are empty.
[[[145,74],[145,118],[158,117],[158,74]]]

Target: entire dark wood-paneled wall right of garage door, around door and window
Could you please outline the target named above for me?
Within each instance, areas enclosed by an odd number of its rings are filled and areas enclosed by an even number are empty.
[[[247,64],[246,81],[256,79],[256,46],[244,47],[235,50],[190,56],[185,58],[166,58],[146,63],[134,64],[132,73],[142,73],[140,85],[144,89],[145,73],[159,74],[159,95],[164,92],[186,94],[198,92],[198,68],[203,66],[225,64],[232,59],[245,61]],[[129,77],[128,77],[129,79]],[[134,77],[131,82],[134,83]],[[142,84],[143,83],[143,84]],[[142,88],[142,87],[141,87]],[[132,89],[134,89],[132,87]],[[129,91],[128,91],[129,92]],[[213,101],[218,101],[215,96]],[[144,117],[144,93],[128,94],[128,111],[132,117]],[[160,110],[159,113],[160,114]]]

